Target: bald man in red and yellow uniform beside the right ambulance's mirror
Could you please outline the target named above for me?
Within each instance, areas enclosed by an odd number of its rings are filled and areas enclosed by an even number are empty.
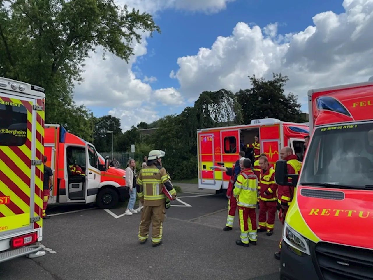
[[[302,163],[298,161],[297,156],[293,154],[291,147],[283,147],[280,151],[281,159],[287,162],[288,174],[299,174]],[[290,181],[291,178],[288,178]],[[293,200],[294,187],[292,186],[278,186],[278,209],[279,209],[279,219],[283,224],[285,221],[286,213],[288,212],[289,205]],[[280,260],[281,255],[281,243],[280,241],[280,251],[275,253],[275,258]]]

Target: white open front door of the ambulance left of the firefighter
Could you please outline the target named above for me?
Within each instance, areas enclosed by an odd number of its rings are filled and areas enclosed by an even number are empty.
[[[101,171],[98,169],[98,156],[97,152],[91,144],[87,144],[87,193],[86,203],[92,203],[96,199],[98,186],[101,182]]]

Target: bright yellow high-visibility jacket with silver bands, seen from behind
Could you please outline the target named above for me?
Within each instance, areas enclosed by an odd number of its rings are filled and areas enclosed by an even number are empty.
[[[244,169],[237,177],[233,195],[237,197],[237,205],[256,208],[258,178],[251,169]]]

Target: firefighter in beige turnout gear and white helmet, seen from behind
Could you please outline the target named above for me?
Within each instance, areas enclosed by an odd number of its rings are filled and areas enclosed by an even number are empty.
[[[165,152],[152,150],[148,155],[147,167],[142,168],[137,177],[137,195],[143,203],[138,238],[140,244],[148,240],[150,223],[153,225],[151,242],[153,247],[162,243],[163,221],[166,214],[166,195],[169,193],[172,199],[176,198],[176,191],[173,188],[166,169],[161,165],[161,158]],[[168,192],[163,191],[166,188]]]

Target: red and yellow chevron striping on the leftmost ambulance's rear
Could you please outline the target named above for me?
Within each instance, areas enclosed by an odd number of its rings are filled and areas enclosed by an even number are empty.
[[[32,103],[25,100],[1,97],[5,102],[17,103],[27,110],[26,142],[22,146],[0,147],[0,196],[11,197],[9,203],[0,204],[0,217],[19,215],[30,212],[31,195],[34,195],[34,217],[41,216],[43,208],[43,172],[44,165],[35,167],[35,194],[31,194],[31,149],[32,149]],[[42,102],[42,100],[40,100]],[[41,104],[40,104],[41,105]],[[36,141],[36,158],[42,159],[44,152],[44,111],[38,112],[36,125],[39,138]],[[40,113],[41,112],[41,113]],[[34,228],[41,227],[42,220],[34,223]]]

